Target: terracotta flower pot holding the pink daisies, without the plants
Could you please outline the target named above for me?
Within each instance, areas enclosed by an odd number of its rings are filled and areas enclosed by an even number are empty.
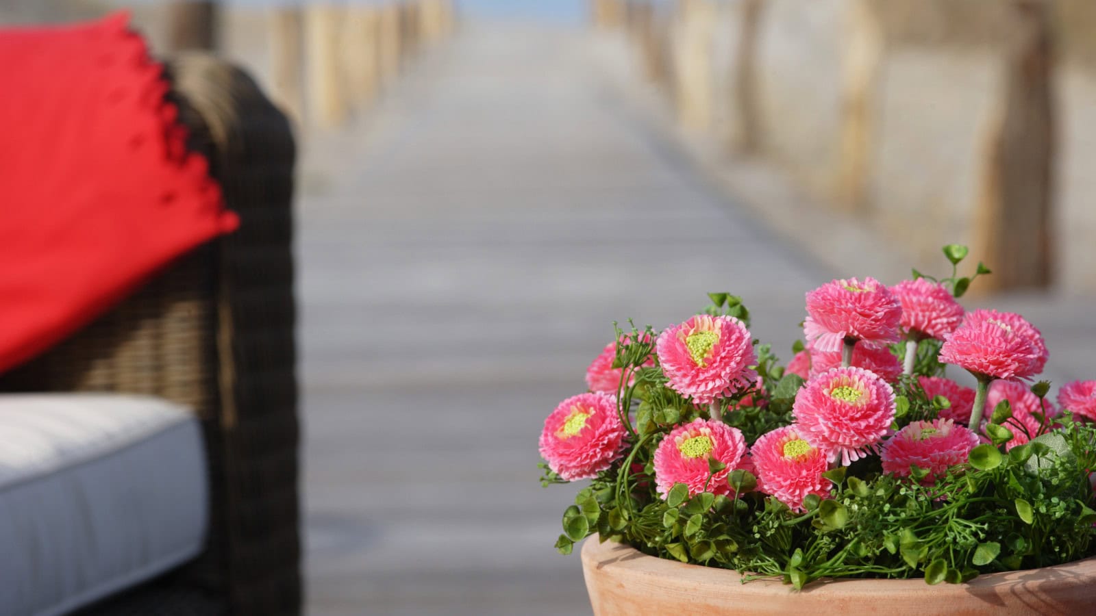
[[[779,581],[743,584],[734,571],[655,558],[594,536],[582,546],[582,570],[596,616],[1096,613],[1096,558],[980,575],[967,584],[835,580],[797,592]]]

